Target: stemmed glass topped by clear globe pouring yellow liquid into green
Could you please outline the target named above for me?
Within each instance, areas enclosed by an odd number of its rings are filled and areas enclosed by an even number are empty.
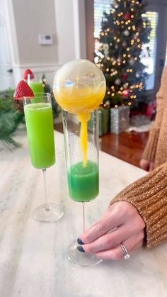
[[[98,111],[105,95],[103,72],[88,60],[67,62],[54,77],[54,97],[62,107],[67,158],[69,196],[82,202],[85,228],[85,202],[98,196]],[[100,260],[94,254],[80,253],[76,242],[68,249],[76,265],[90,266]]]

